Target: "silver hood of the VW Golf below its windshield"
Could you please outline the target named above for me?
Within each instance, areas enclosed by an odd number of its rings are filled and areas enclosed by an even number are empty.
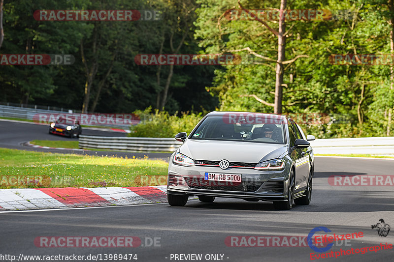
[[[194,160],[227,159],[230,162],[246,163],[259,163],[279,158],[287,151],[286,145],[190,139],[179,148],[180,153]]]

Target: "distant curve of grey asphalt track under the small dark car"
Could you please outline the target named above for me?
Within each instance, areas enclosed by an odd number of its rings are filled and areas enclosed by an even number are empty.
[[[76,141],[59,135],[52,135],[48,133],[48,125],[40,125],[33,122],[16,122],[0,119],[0,147],[20,150],[31,150],[39,152],[53,152],[64,154],[83,154],[83,155],[108,155],[108,156],[128,156],[143,158],[145,155],[149,158],[163,158],[168,159],[171,155],[169,153],[140,153],[140,152],[115,152],[115,151],[95,151],[95,150],[58,150],[58,149],[45,149],[35,148],[30,146],[23,146],[23,143],[32,140],[64,140]],[[125,137],[126,133],[114,132],[111,130],[103,131],[90,128],[82,128],[83,135],[91,136],[112,136],[112,137]]]

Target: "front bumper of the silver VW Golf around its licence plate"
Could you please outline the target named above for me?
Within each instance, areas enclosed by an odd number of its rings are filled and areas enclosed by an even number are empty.
[[[205,172],[242,175],[242,183],[208,182]],[[250,201],[286,201],[289,170],[259,171],[255,169],[193,166],[183,167],[170,162],[167,193],[172,195],[213,196]]]

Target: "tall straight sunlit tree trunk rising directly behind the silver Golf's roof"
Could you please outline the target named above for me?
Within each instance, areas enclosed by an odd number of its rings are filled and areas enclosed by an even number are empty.
[[[278,60],[276,61],[275,70],[275,101],[274,101],[274,114],[282,114],[282,96],[283,96],[283,64],[285,60],[286,50],[286,23],[283,11],[286,9],[286,0],[280,1],[280,16],[279,16],[279,29],[278,29]]]

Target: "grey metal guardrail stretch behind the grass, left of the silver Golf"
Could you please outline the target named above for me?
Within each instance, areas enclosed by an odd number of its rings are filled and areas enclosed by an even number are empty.
[[[80,148],[150,152],[175,151],[180,145],[174,138],[79,136]]]

